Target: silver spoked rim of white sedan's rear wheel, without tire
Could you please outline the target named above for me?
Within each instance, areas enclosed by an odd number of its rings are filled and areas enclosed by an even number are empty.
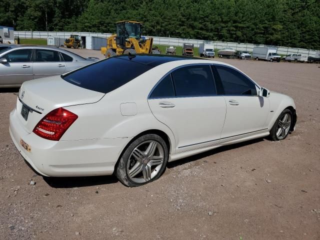
[[[143,183],[154,178],[164,161],[164,151],[161,144],[148,140],[137,145],[129,155],[126,172],[131,181]]]

